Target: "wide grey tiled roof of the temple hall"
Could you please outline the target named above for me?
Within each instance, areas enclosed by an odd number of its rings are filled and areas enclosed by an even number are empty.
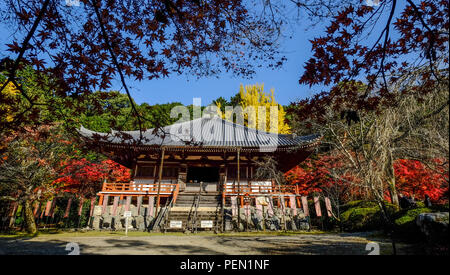
[[[162,129],[137,131],[114,131],[100,133],[80,127],[80,135],[85,139],[103,143],[138,146],[165,147],[309,147],[316,144],[320,135],[295,136],[258,131],[232,123],[217,116],[202,117],[175,123]]]

